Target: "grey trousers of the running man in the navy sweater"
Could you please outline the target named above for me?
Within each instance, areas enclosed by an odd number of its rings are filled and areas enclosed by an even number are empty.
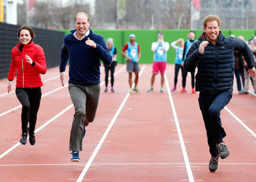
[[[69,82],[68,90],[75,107],[70,131],[69,150],[81,151],[83,127],[88,126],[95,118],[100,97],[100,84],[86,86]]]

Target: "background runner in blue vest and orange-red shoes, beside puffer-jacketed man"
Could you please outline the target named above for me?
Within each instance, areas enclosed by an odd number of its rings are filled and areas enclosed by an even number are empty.
[[[197,40],[195,40],[195,32],[194,31],[190,31],[188,33],[188,37],[189,40],[187,40],[185,42],[184,45],[184,50],[183,50],[183,58],[182,60],[184,61],[186,58],[186,55],[189,51],[190,46]],[[183,66],[183,61],[182,61],[182,66]],[[185,90],[185,86],[186,86],[186,77],[187,77],[187,70],[183,67],[183,74],[182,74],[182,89],[180,90],[180,92],[187,92],[187,90]],[[192,84],[192,93],[195,93],[195,70],[191,71],[191,84]]]

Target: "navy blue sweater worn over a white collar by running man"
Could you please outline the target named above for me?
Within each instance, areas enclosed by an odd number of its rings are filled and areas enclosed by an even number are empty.
[[[90,30],[88,36],[78,40],[73,36],[75,31],[72,30],[70,34],[64,36],[60,72],[65,71],[69,60],[69,82],[79,85],[97,85],[100,83],[100,60],[106,65],[111,65],[112,56],[103,36]],[[88,37],[96,43],[96,48],[85,44]]]

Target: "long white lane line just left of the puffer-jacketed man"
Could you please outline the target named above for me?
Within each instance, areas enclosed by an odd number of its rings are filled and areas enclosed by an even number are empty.
[[[174,103],[173,103],[173,99],[171,97],[171,91],[170,91],[170,87],[169,87],[169,83],[168,83],[168,79],[166,77],[166,74],[164,74],[164,79],[165,79],[165,83],[166,83],[169,99],[170,99],[170,102],[171,102],[171,108],[172,108],[172,111],[173,111],[173,117],[174,117],[174,120],[175,120],[178,136],[179,136],[179,139],[180,139],[180,145],[181,145],[181,148],[182,148],[183,158],[185,160],[185,165],[186,165],[186,168],[187,168],[187,173],[188,173],[188,176],[189,176],[189,181],[190,182],[194,182],[194,177],[193,177],[192,170],[191,170],[191,167],[190,167],[190,164],[189,164],[189,158],[188,158],[186,147],[185,147],[185,143],[184,143],[184,140],[183,140],[183,137],[182,137],[182,132],[181,132],[181,129],[180,129],[180,124],[179,124],[178,117],[177,117],[177,114],[176,114],[176,110],[175,110],[175,106],[174,106]]]

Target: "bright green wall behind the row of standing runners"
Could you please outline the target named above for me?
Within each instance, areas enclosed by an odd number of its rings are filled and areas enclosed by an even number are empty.
[[[62,30],[66,34],[70,33],[69,30]],[[107,38],[112,37],[114,39],[114,46],[117,49],[117,61],[118,63],[126,63],[125,58],[121,55],[121,49],[123,45],[129,42],[129,35],[135,34],[136,42],[140,45],[141,50],[141,58],[140,64],[151,64],[153,62],[154,53],[151,51],[151,44],[157,41],[157,32],[161,31],[164,33],[164,41],[168,43],[172,43],[173,41],[183,38],[185,41],[188,39],[187,33],[190,31],[189,29],[175,30],[175,29],[163,29],[163,30],[97,30],[92,29],[92,31],[96,34],[102,35],[105,40]],[[195,30],[195,39],[198,39],[202,34],[203,30]],[[229,30],[229,29],[221,29],[221,32],[225,35],[225,37],[234,34],[236,37],[239,35],[244,36],[244,38],[248,41],[249,38],[256,35],[256,30]],[[175,62],[176,52],[170,46],[170,49],[167,53],[167,63],[173,64]]]

